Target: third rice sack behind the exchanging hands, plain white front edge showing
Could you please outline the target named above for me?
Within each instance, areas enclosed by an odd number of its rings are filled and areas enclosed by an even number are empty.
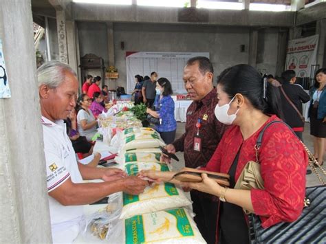
[[[129,133],[129,135],[122,140],[120,151],[135,148],[157,148],[165,145],[166,144],[163,142],[160,135],[157,135],[156,133],[143,135]]]

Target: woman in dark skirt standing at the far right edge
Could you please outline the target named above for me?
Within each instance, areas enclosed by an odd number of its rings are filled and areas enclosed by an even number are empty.
[[[326,137],[326,68],[318,69],[310,89],[310,134],[314,137],[314,157],[323,165]]]

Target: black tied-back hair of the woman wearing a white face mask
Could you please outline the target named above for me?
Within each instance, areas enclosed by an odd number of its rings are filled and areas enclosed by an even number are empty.
[[[221,72],[217,84],[222,86],[230,99],[241,93],[255,109],[283,118],[279,89],[267,82],[266,98],[263,98],[263,79],[259,71],[250,65],[235,65]]]

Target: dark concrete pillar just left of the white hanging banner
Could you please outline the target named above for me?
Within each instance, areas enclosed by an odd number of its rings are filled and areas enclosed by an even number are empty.
[[[279,38],[277,41],[277,58],[276,58],[276,76],[281,76],[285,67],[286,60],[286,48],[287,48],[287,31],[280,30]]]

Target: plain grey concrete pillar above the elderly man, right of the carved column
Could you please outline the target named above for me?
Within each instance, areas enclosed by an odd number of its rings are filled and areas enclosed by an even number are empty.
[[[68,61],[69,65],[78,72],[78,62],[77,62],[77,52],[76,49],[76,30],[75,30],[75,21],[66,21],[66,30],[67,30],[67,52],[68,52]]]

